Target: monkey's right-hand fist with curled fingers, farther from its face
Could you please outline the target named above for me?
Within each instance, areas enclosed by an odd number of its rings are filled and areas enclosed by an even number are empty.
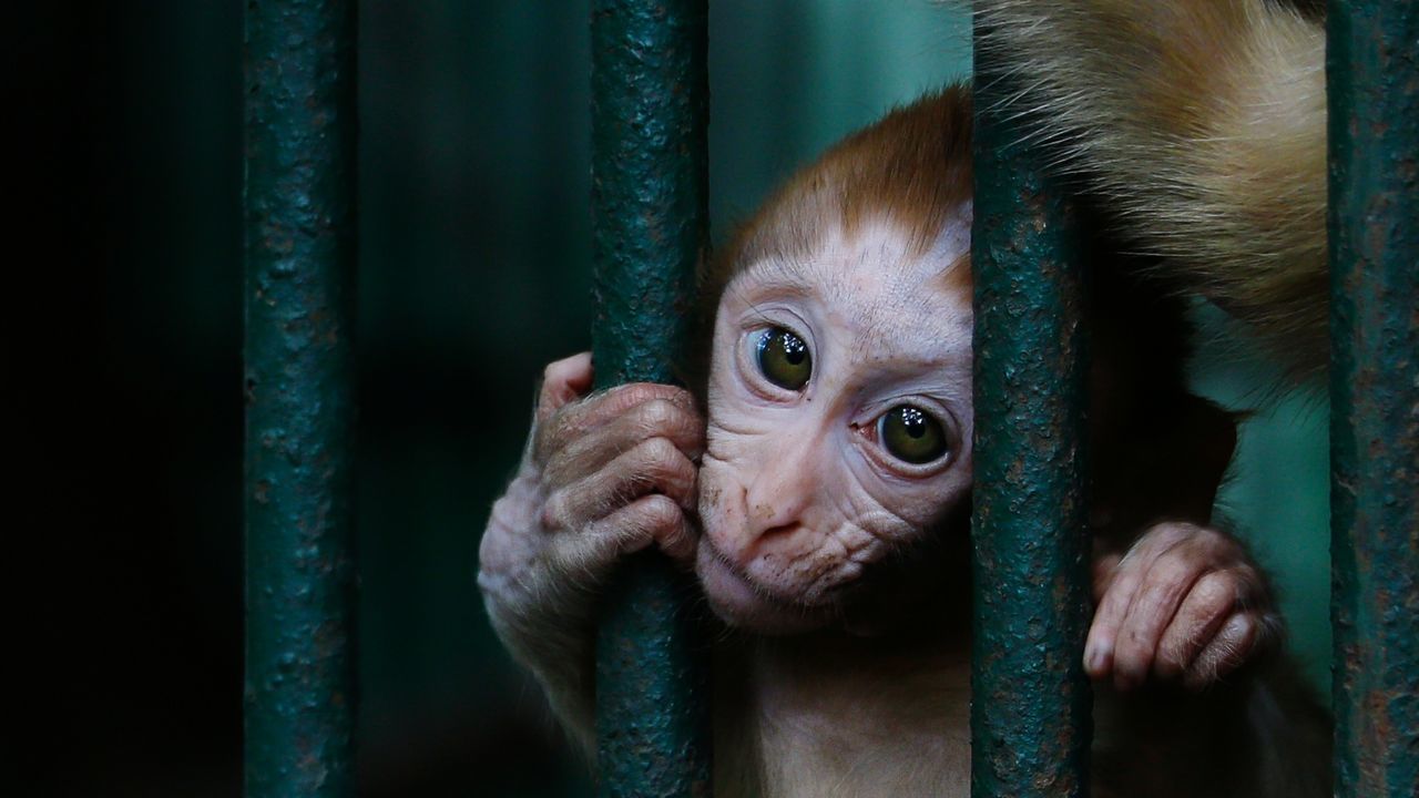
[[[1084,669],[1120,690],[1149,672],[1199,690],[1281,636],[1260,568],[1210,527],[1158,524],[1122,558],[1095,558],[1094,599]]]

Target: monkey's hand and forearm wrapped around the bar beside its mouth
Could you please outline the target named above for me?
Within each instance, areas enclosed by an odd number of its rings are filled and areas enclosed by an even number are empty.
[[[595,594],[620,557],[653,544],[692,565],[705,427],[681,388],[590,388],[589,352],[546,366],[522,463],[478,550],[494,628],[583,743]]]

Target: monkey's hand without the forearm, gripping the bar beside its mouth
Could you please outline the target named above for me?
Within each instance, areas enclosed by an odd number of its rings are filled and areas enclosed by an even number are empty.
[[[536,596],[566,582],[595,588],[622,555],[651,544],[694,562],[685,514],[704,449],[694,398],[670,385],[590,386],[587,352],[543,372],[522,464],[480,550],[478,581],[495,602],[548,601]]]

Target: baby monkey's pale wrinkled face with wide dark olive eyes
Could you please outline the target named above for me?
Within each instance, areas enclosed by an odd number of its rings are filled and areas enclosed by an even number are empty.
[[[748,264],[715,317],[697,572],[761,633],[834,623],[971,484],[968,217]]]

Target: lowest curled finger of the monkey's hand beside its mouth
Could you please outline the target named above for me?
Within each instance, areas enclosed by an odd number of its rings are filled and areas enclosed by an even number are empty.
[[[559,557],[565,569],[600,575],[619,558],[651,544],[675,562],[692,564],[695,542],[684,510],[666,496],[650,494],[597,520],[586,534],[568,537]]]

